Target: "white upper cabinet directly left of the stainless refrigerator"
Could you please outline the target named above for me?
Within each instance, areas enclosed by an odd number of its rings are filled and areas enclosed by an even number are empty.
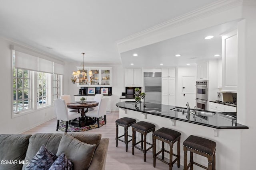
[[[141,69],[125,69],[125,86],[141,86]]]

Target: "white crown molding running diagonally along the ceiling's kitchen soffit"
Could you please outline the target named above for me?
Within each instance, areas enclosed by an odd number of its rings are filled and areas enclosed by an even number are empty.
[[[182,16],[174,18],[172,20],[166,21],[166,22],[158,24],[154,27],[150,27],[150,28],[140,31],[136,34],[130,35],[124,39],[120,39],[119,41],[117,41],[117,45],[126,43],[128,41],[131,41],[131,40],[139,38],[139,37],[142,37],[149,33],[157,32],[160,29],[165,29],[167,27],[174,27],[176,25],[182,25],[187,22],[192,22],[194,20],[198,20],[200,18],[204,18],[204,17],[212,15],[212,14],[217,14],[219,12],[226,11],[231,8],[235,8],[237,6],[242,5],[244,1],[246,1],[246,3],[255,2],[255,0],[219,0],[217,2],[209,4],[202,8],[199,8],[197,10],[194,10],[192,12],[189,12],[187,14],[184,14]]]

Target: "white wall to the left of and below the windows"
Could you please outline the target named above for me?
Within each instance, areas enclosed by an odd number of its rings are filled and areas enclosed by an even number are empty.
[[[55,117],[54,107],[40,109],[32,113],[12,118],[12,62],[10,44],[0,38],[0,71],[2,73],[0,84],[0,133],[22,133],[32,127],[40,125]],[[52,127],[56,128],[56,127]]]

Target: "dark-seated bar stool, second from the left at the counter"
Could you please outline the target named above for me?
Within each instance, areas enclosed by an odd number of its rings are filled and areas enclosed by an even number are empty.
[[[148,143],[146,141],[146,135],[150,132],[154,133],[155,127],[156,126],[154,124],[148,123],[148,122],[145,122],[145,121],[139,121],[139,122],[134,123],[132,125],[132,154],[134,155],[134,148],[143,151],[143,153],[144,153],[144,162],[146,162],[146,153],[147,153],[147,151],[150,150],[153,147],[153,144]],[[137,143],[136,143],[136,131],[141,133],[141,140]],[[143,136],[144,136],[144,140],[143,140]],[[139,143],[141,143],[141,149],[136,146]],[[150,147],[148,149],[146,149],[146,144],[150,145]]]

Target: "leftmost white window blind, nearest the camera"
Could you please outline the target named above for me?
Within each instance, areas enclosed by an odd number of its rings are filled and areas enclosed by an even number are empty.
[[[15,68],[37,71],[37,58],[38,57],[34,57],[32,55],[25,54],[20,51],[15,51]]]

